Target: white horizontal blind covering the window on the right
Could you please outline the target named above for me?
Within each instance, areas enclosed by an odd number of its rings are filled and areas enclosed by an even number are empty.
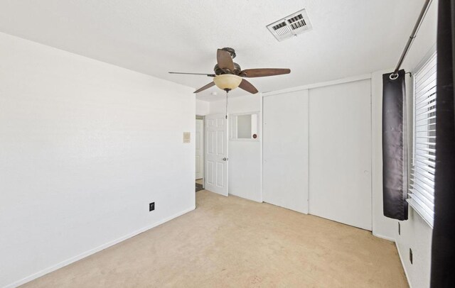
[[[414,167],[408,199],[430,226],[434,220],[436,72],[437,55],[434,53],[414,75]]]

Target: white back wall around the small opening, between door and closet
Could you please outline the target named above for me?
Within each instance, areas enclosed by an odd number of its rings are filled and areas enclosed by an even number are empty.
[[[260,94],[232,97],[228,113],[261,111]],[[210,114],[225,113],[226,101],[210,102]],[[262,115],[259,113],[259,123]],[[262,125],[258,140],[229,140],[229,194],[262,202]]]

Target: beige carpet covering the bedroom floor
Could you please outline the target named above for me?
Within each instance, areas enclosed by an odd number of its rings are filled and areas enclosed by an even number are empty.
[[[25,287],[407,287],[368,231],[205,190],[197,208]]]

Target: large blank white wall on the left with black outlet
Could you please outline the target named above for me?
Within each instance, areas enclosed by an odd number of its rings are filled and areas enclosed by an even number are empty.
[[[189,87],[0,33],[0,287],[194,209],[194,107]]]

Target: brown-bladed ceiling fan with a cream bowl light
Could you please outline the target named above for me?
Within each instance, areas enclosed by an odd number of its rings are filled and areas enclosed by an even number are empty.
[[[265,77],[265,76],[275,76],[281,74],[289,74],[291,70],[289,69],[279,69],[279,68],[259,68],[259,69],[247,69],[242,70],[240,65],[233,62],[232,59],[235,58],[235,50],[232,48],[223,48],[218,49],[216,53],[217,64],[213,68],[215,74],[204,74],[204,73],[183,73],[183,72],[169,72],[171,74],[193,74],[193,75],[205,75],[208,77],[213,77],[213,82],[200,87],[194,93],[204,91],[213,86],[217,86],[220,89],[229,92],[232,89],[240,87],[247,92],[252,94],[257,93],[257,89],[247,80],[243,78],[253,78],[253,77]]]

